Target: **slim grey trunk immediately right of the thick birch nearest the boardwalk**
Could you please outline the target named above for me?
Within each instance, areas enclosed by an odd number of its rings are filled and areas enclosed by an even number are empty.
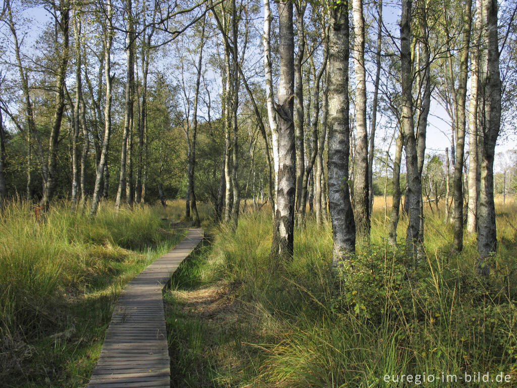
[[[298,223],[303,221],[303,174],[305,173],[305,150],[303,139],[303,77],[302,65],[303,54],[305,53],[305,27],[303,17],[307,8],[305,0],[295,0],[296,4],[296,27],[298,29],[298,52],[294,63],[295,96],[296,96],[296,210]]]

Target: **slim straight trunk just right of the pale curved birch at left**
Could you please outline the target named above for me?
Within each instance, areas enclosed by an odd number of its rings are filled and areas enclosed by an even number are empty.
[[[122,133],[122,146],[120,152],[120,175],[118,178],[117,197],[115,207],[120,208],[120,202],[124,196],[124,183],[126,179],[126,153],[128,145],[128,135],[131,121],[133,120],[133,84],[134,84],[134,53],[133,53],[133,15],[132,0],[127,1],[127,28],[126,36],[126,110],[124,115],[124,132]]]

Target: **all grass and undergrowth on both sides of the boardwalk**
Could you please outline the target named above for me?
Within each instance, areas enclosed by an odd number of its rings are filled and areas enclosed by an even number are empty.
[[[182,207],[117,214],[102,203],[91,218],[56,204],[38,222],[28,203],[10,204],[0,245],[2,385],[85,386],[121,288],[185,235]],[[476,275],[475,241],[454,253],[453,226],[429,210],[416,269],[404,238],[396,250],[387,244],[375,205],[370,244],[358,244],[353,271],[336,272],[328,222],[309,216],[295,230],[293,259],[279,262],[267,204],[248,206],[235,231],[200,209],[208,238],[164,293],[171,386],[403,386],[383,378],[471,371],[511,376],[482,386],[514,386],[517,204],[497,203],[490,279]]]

